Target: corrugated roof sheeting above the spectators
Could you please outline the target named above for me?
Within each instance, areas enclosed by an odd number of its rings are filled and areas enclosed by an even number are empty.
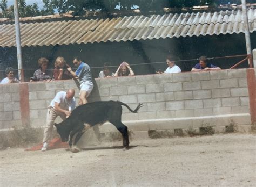
[[[248,20],[250,32],[255,31],[256,10],[248,9]],[[241,10],[21,24],[22,46],[151,40],[240,32],[244,32]],[[0,25],[0,46],[16,46],[14,24]]]

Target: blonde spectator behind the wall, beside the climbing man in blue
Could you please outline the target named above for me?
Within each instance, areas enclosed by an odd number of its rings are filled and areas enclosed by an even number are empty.
[[[72,75],[66,70],[70,66],[66,64],[64,57],[57,57],[54,65],[55,69],[53,69],[53,77],[55,80],[67,80],[72,78]]]

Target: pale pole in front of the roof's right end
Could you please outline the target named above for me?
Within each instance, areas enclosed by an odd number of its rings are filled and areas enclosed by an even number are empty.
[[[251,39],[250,39],[250,31],[249,31],[249,24],[248,24],[248,15],[247,15],[247,7],[246,7],[246,0],[242,0],[242,17],[244,19],[244,30],[245,30],[245,41],[246,41],[246,50],[247,55],[250,55],[248,59],[248,63],[252,63],[252,48],[251,48]],[[256,64],[254,64],[256,67]]]

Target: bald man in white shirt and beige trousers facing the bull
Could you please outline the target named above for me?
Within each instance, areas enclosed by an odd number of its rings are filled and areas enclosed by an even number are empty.
[[[48,143],[51,139],[51,132],[55,119],[59,116],[62,120],[70,116],[71,111],[76,107],[76,100],[74,98],[75,90],[60,91],[51,101],[46,117],[46,127],[44,129],[44,139],[42,151],[47,150]]]

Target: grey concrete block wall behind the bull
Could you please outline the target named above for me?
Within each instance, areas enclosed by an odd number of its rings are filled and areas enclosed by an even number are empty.
[[[28,84],[31,126],[45,125],[47,107],[58,91],[74,88],[78,104],[79,89],[73,80],[23,84]],[[1,116],[0,123],[4,124],[1,128],[21,124],[17,109],[19,99],[15,97],[18,85],[0,85],[0,115],[6,115]],[[251,125],[246,69],[96,78],[89,101],[98,100],[120,100],[132,109],[138,103],[144,103],[138,113],[131,113],[123,107],[122,115],[124,124],[144,134],[148,130],[185,130],[191,127],[197,130],[204,125],[221,131],[231,121],[241,127]],[[11,106],[14,102],[17,102],[15,107]],[[4,111],[10,108],[11,111]],[[57,123],[59,121],[60,118]],[[110,124],[101,126],[100,130],[116,131]]]

